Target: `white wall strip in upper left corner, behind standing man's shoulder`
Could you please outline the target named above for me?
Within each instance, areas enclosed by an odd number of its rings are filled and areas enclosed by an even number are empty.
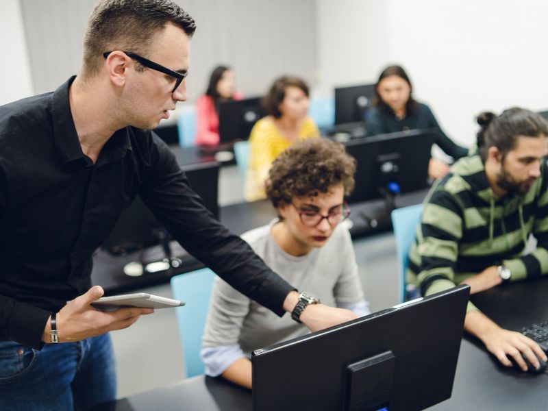
[[[32,95],[32,79],[18,0],[0,5],[0,105]]]

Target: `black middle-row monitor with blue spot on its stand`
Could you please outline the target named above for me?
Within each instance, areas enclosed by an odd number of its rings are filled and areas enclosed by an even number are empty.
[[[388,192],[410,192],[427,187],[428,163],[434,129],[379,134],[345,142],[356,158],[356,185],[347,199],[359,203]]]

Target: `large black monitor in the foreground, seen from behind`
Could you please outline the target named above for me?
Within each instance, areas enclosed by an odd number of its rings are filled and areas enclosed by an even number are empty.
[[[451,397],[469,286],[253,351],[253,410],[423,410]]]

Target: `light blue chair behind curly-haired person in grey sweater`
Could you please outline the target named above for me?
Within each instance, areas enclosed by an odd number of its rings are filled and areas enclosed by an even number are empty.
[[[200,269],[171,277],[173,298],[184,301],[184,307],[175,308],[179,337],[181,338],[186,377],[203,374],[200,359],[201,338],[206,326],[215,273]]]

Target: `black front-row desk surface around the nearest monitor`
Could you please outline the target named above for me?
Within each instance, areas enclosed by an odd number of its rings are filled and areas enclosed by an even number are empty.
[[[548,279],[499,286],[473,297],[503,327],[519,329],[548,319]],[[548,375],[505,369],[473,338],[460,348],[453,395],[429,410],[543,410]],[[103,410],[251,411],[251,392],[223,379],[193,377],[166,388],[120,399]]]

